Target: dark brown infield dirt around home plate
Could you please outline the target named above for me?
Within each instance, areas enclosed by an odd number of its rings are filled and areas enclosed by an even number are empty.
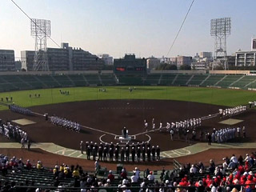
[[[36,122],[33,125],[22,126],[22,129],[28,132],[33,142],[54,142],[60,146],[79,149],[80,141],[88,142],[119,142],[114,139],[114,135],[121,135],[122,128],[126,126],[130,135],[140,134],[144,131],[144,119],[149,123],[149,129],[152,130],[151,121],[155,119],[156,128],[159,122],[166,126],[166,122],[176,122],[188,118],[202,118],[209,114],[218,113],[218,109],[225,109],[224,106],[214,106],[198,102],[178,102],[170,100],[100,100],[87,102],[66,102],[61,104],[33,106],[31,110],[38,114],[48,113],[79,122],[82,126],[88,126],[92,129],[82,127],[81,133],[71,130],[65,130],[62,127],[54,126],[46,122],[45,118],[40,115],[25,116],[15,114],[10,110],[0,111],[0,118],[3,120],[15,120],[27,118]],[[242,142],[255,141],[254,125],[256,122],[255,110],[249,110],[244,114],[238,114],[232,118],[244,120],[232,127],[246,126],[246,134],[249,138],[242,139]],[[226,118],[224,118],[226,119]],[[215,127],[223,128],[225,125],[219,124],[220,118],[210,118],[202,122],[198,127],[204,133],[213,130]],[[98,131],[101,130],[101,131]],[[106,133],[105,133],[106,132]],[[110,134],[108,134],[110,133]],[[148,136],[147,136],[148,135]],[[167,132],[150,132],[140,134],[132,142],[146,142],[150,140],[151,145],[160,146],[161,150],[174,150],[188,146],[190,144],[184,141],[184,138],[174,138],[170,140],[170,134]],[[0,142],[6,142],[6,138],[0,137]],[[237,142],[237,140],[235,140]],[[240,140],[241,141],[241,140]],[[130,142],[131,143],[131,142]]]

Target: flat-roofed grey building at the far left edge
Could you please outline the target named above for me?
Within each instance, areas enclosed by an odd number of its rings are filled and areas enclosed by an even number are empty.
[[[0,71],[14,71],[14,50],[0,50]]]

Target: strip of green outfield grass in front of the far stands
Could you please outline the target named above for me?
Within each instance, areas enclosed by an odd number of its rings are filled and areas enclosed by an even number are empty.
[[[104,88],[106,88],[106,92],[100,92],[100,87],[71,87],[61,89],[69,90],[70,95],[60,94],[59,88],[22,90],[0,93],[0,98],[12,97],[15,104],[24,107],[102,99],[167,99],[203,102],[222,106],[238,106],[256,100],[256,93],[247,90],[178,86],[137,86],[136,90],[130,93],[128,86],[111,86]],[[30,94],[32,95],[31,98],[29,96]],[[35,98],[34,94],[40,94],[41,96],[40,98]],[[0,106],[0,110],[5,109],[6,107]]]

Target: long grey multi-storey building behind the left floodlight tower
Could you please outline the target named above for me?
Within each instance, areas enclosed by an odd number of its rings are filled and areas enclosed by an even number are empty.
[[[81,48],[72,48],[62,42],[61,48],[47,48],[50,71],[56,70],[102,70],[104,62],[101,58]],[[23,50],[22,68],[33,70],[34,51]]]

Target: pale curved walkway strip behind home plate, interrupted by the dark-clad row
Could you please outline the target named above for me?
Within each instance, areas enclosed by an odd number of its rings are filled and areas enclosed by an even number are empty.
[[[21,148],[21,144],[18,142],[1,142],[0,148],[13,148],[18,149]],[[31,148],[38,148],[41,150],[45,150],[51,154],[59,154],[70,158],[86,158],[86,154],[81,154],[80,150],[72,150],[63,146],[58,146],[52,142],[38,142],[33,143]],[[212,143],[211,146],[208,146],[207,143],[201,142],[194,144],[192,146],[186,146],[177,150],[168,150],[162,151],[162,158],[178,158],[183,157],[190,154],[198,154],[205,150],[210,149],[255,149],[256,142],[235,142],[235,143]]]

